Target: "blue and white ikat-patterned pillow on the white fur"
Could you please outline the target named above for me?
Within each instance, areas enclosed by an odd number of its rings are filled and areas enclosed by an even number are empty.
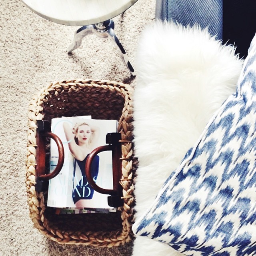
[[[188,256],[256,255],[256,36],[236,94],[132,227]]]

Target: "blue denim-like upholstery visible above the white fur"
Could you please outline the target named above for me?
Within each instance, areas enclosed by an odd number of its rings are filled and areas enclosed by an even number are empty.
[[[222,40],[222,0],[156,0],[156,18],[186,26],[199,24]]]

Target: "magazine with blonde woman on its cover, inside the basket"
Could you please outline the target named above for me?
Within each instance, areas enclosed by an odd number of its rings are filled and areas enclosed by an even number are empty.
[[[47,206],[69,210],[87,209],[85,212],[115,210],[108,206],[108,195],[94,191],[87,182],[85,164],[94,148],[106,145],[106,134],[116,132],[117,124],[116,120],[95,120],[90,116],[52,119],[52,132],[64,146],[64,165],[60,173],[49,181]],[[51,140],[50,145],[52,172],[58,162],[58,148],[54,140]],[[98,186],[113,188],[111,151],[100,152],[94,158],[91,174]]]

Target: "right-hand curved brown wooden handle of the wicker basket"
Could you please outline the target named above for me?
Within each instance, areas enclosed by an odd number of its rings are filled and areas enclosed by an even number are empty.
[[[123,201],[122,197],[122,187],[120,185],[120,179],[122,178],[122,145],[121,145],[121,134],[120,133],[108,133],[106,135],[106,143],[108,145],[100,146],[92,150],[89,154],[86,165],[85,165],[85,175],[86,179],[92,188],[101,193],[109,194],[108,204],[113,207],[121,206]],[[105,189],[99,187],[93,180],[91,175],[91,165],[94,157],[103,151],[112,151],[112,170],[113,170],[113,189]]]

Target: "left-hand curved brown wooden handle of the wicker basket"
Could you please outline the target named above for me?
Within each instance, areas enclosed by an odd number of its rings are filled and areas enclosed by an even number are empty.
[[[60,170],[62,169],[62,166],[64,163],[64,148],[60,138],[56,134],[50,132],[50,124],[48,121],[38,120],[36,132],[37,132],[36,179],[37,181],[40,181],[40,180],[48,181],[56,177],[60,173]],[[56,142],[58,147],[58,152],[59,152],[57,166],[53,170],[53,172],[51,172],[50,174],[45,173],[46,171],[46,168],[45,168],[46,138],[52,138]]]

